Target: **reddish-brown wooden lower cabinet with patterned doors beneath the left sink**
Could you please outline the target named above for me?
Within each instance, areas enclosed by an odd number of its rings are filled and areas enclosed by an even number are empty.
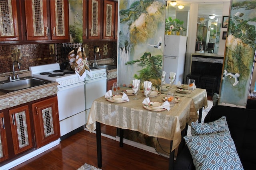
[[[1,164],[60,138],[56,95],[3,109],[0,116]]]

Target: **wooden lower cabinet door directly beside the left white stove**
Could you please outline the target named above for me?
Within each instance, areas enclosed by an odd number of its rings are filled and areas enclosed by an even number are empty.
[[[40,148],[60,137],[57,97],[32,104],[36,148]]]

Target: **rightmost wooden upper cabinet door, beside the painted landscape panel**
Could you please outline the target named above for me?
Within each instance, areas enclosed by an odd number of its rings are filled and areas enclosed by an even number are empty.
[[[104,1],[103,39],[114,39],[115,34],[115,2]]]

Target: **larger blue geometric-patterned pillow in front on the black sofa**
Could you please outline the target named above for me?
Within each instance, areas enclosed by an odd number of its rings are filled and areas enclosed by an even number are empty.
[[[196,170],[243,170],[229,132],[183,138]]]

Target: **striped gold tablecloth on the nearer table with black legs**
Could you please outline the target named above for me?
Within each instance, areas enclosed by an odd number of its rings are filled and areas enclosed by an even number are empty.
[[[161,94],[150,98],[152,102],[163,102]],[[90,132],[96,129],[96,121],[105,125],[130,129],[151,137],[159,137],[172,140],[172,150],[178,147],[181,141],[181,131],[186,123],[198,119],[198,113],[191,98],[180,97],[181,102],[176,103],[169,111],[150,111],[143,107],[145,96],[139,92],[138,100],[135,96],[128,96],[130,101],[113,103],[107,101],[104,96],[94,100],[88,115],[86,127]]]

